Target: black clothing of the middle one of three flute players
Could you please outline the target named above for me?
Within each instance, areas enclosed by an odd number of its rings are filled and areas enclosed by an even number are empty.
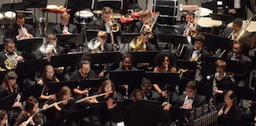
[[[56,102],[54,100],[51,103]],[[67,102],[67,104],[62,105],[59,104],[61,111],[58,111],[55,107],[48,108],[45,110],[45,117],[47,122],[54,122],[56,125],[61,125],[61,121],[67,117],[69,113],[72,113],[76,110],[76,101],[71,99]]]

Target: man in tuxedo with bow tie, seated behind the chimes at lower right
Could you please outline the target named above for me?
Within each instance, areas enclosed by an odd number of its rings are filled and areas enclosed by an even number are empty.
[[[186,94],[178,97],[176,107],[192,109],[200,107],[200,105],[206,102],[205,96],[197,94],[197,84],[195,81],[189,81],[186,84]]]

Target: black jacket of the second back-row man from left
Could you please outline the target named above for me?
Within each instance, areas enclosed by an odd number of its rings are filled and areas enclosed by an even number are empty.
[[[53,34],[62,34],[62,30],[64,28],[64,25],[62,24],[56,24],[54,27],[53,27]],[[67,25],[67,29],[68,29],[68,32],[71,33],[71,34],[78,34],[77,32],[77,26],[74,25],[74,24],[68,24]]]

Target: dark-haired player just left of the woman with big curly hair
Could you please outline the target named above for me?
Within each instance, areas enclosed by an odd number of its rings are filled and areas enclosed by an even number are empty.
[[[131,65],[131,55],[124,54],[121,56],[121,61],[122,61],[122,66],[119,68],[115,69],[115,71],[138,71],[138,69],[134,66]]]

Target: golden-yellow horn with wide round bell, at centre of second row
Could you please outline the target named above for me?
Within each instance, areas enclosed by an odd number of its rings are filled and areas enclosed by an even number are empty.
[[[131,42],[130,42],[131,50],[133,50],[133,51],[137,51],[137,50],[147,51],[144,48],[144,46],[142,45],[142,41],[143,41],[143,39],[141,38],[141,36],[137,36],[136,38],[132,39]]]

